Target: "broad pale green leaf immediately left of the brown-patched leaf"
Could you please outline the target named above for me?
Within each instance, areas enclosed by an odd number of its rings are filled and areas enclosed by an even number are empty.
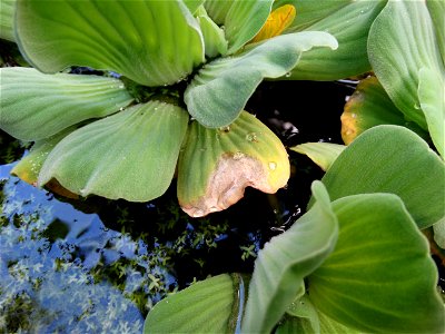
[[[174,176],[187,121],[184,109],[150,101],[89,124],[55,147],[39,184],[56,178],[72,193],[110,199],[159,197]]]

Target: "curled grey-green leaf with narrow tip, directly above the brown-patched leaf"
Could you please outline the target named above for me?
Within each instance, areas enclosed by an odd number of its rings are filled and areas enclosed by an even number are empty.
[[[284,76],[314,47],[334,49],[337,43],[326,32],[290,33],[206,65],[186,89],[188,111],[206,127],[230,125],[264,78]]]

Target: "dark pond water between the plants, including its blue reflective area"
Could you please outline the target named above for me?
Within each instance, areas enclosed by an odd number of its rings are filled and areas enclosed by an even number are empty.
[[[286,146],[340,143],[352,92],[339,82],[266,82],[246,109]],[[289,151],[286,189],[248,189],[225,213],[195,219],[178,207],[175,181],[145,204],[57,198],[9,175],[26,153],[0,132],[0,333],[138,333],[167,294],[208,275],[251,272],[258,249],[304,213],[310,183],[323,176]]]

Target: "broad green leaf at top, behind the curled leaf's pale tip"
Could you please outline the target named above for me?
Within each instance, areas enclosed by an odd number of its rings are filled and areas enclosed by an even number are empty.
[[[330,1],[320,3],[326,2]],[[305,30],[332,33],[338,41],[338,49],[335,52],[328,49],[314,49],[304,53],[290,76],[284,79],[336,80],[369,71],[370,65],[366,49],[369,27],[384,6],[383,0],[353,1],[306,27]],[[298,2],[296,7],[298,18]]]

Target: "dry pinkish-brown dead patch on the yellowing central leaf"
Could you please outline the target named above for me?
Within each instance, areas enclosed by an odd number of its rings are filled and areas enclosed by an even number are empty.
[[[207,181],[204,196],[194,203],[180,203],[182,210],[191,217],[204,217],[220,212],[244,197],[246,187],[273,194],[278,188],[268,183],[267,166],[243,153],[222,155]]]

